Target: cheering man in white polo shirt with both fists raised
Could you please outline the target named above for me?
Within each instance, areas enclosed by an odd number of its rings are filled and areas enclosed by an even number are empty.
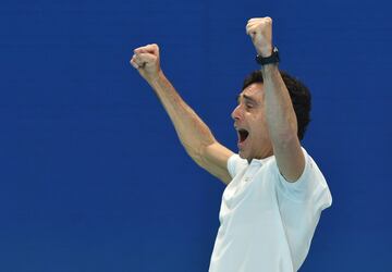
[[[332,202],[321,172],[299,143],[310,96],[280,73],[272,20],[252,18],[246,32],[262,66],[245,81],[232,112],[238,154],[215,139],[164,77],[157,45],[135,49],[131,64],[158,95],[187,153],[228,185],[209,271],[297,271],[321,211]]]

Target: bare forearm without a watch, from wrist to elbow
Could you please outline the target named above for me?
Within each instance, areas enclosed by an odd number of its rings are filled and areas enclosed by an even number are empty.
[[[199,162],[206,147],[216,141],[212,133],[194,110],[180,97],[162,72],[149,85],[169,114],[187,153]]]

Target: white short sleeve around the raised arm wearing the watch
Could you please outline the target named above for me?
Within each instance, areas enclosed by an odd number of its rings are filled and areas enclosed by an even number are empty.
[[[305,169],[298,181],[290,183],[284,180],[278,165],[279,189],[289,199],[297,202],[317,201],[321,210],[332,205],[332,196],[327,181],[313,158],[302,148],[305,157]]]

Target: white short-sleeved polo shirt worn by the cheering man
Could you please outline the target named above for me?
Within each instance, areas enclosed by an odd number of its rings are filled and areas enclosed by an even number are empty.
[[[233,177],[219,213],[209,272],[292,272],[308,254],[321,211],[332,203],[327,182],[305,156],[299,180],[289,183],[275,158],[228,161]]]

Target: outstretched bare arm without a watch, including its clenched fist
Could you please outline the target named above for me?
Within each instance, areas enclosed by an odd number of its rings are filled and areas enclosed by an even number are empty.
[[[131,64],[157,94],[191,158],[203,169],[229,184],[231,176],[226,165],[233,152],[216,140],[209,127],[164,76],[159,64],[158,46],[148,45],[135,49]]]

